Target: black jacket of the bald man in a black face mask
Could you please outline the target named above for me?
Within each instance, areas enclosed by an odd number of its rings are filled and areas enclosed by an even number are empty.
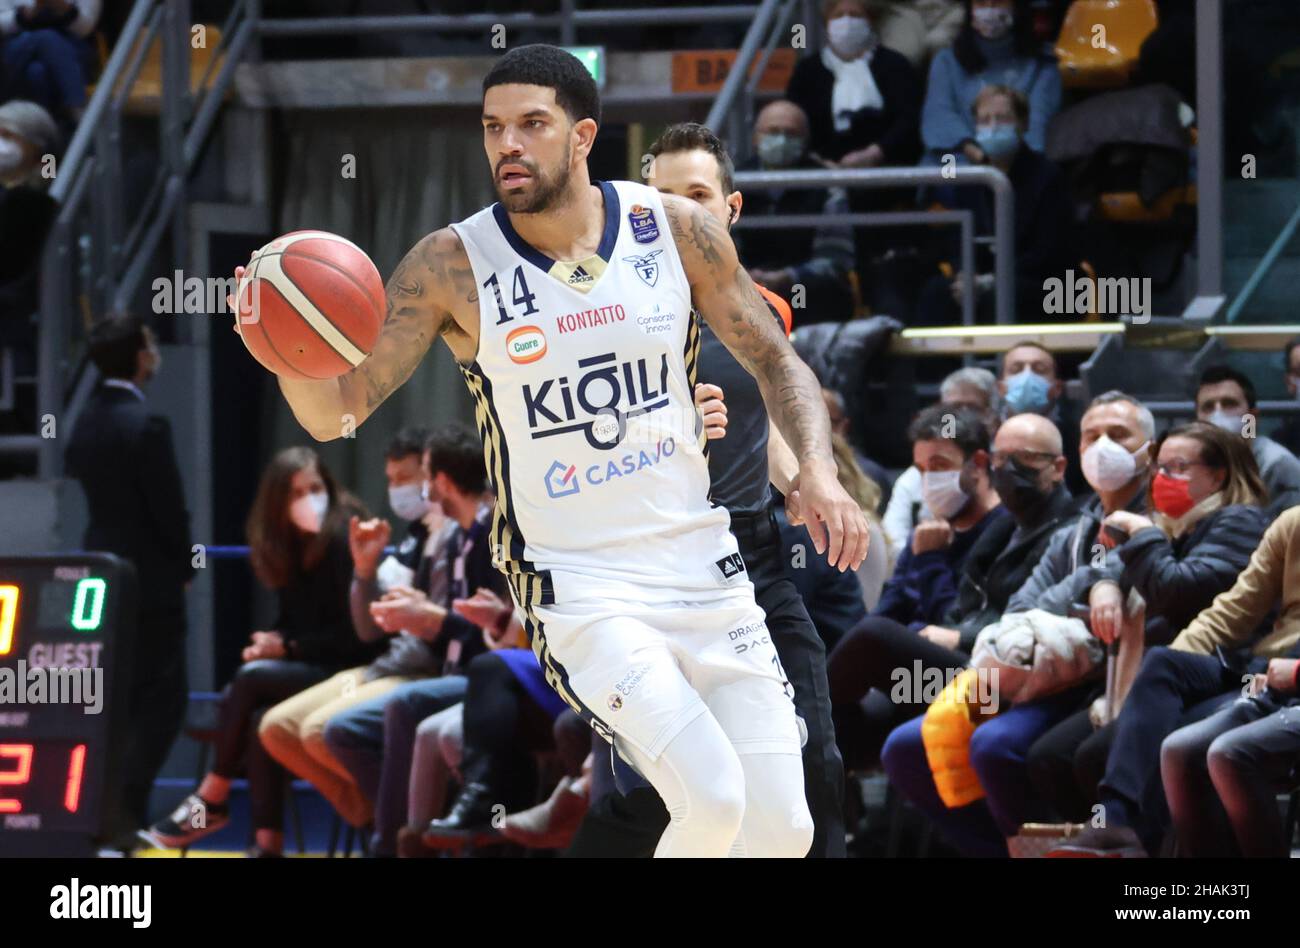
[[[1002,618],[1011,596],[1034,572],[1053,532],[1079,515],[1078,502],[1058,486],[1048,498],[1037,527],[1011,545],[1015,518],[1002,518],[982,536],[962,564],[957,601],[949,606],[945,624],[962,633],[958,649],[970,654],[985,625]]]

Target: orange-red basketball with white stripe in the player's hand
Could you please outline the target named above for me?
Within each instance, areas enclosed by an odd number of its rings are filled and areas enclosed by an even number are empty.
[[[237,299],[248,351],[285,378],[334,378],[360,365],[386,309],[370,257],[324,230],[295,230],[254,254]]]

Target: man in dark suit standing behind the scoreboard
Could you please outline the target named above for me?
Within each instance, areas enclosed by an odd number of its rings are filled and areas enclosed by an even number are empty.
[[[121,813],[110,827],[112,841],[129,848],[148,824],[153,779],[185,719],[190,514],[172,428],[148,412],[142,391],[161,363],[152,332],[138,317],[104,319],[91,330],[90,356],[101,381],[77,419],[66,460],[90,506],[86,549],[131,562],[139,588],[131,687],[122,702]]]

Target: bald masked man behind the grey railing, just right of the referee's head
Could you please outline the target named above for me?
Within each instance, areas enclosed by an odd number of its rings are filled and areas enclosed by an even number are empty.
[[[786,100],[768,103],[754,120],[754,156],[741,170],[788,170],[819,168],[807,152],[809,121],[798,105]],[[820,215],[846,211],[842,195],[832,198],[823,187],[754,189],[745,192],[746,217]],[[731,212],[734,217],[737,212]],[[738,229],[736,247],[750,278],[772,293],[789,298],[792,287],[803,286],[801,323],[845,320],[853,315],[853,229],[842,224],[819,228]]]

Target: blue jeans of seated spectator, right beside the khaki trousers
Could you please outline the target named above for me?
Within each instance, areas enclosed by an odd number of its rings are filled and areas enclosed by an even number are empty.
[[[407,791],[415,731],[425,718],[459,705],[462,675],[420,679],[372,701],[354,705],[325,724],[325,744],[374,805],[376,856],[396,852],[406,824]]]

